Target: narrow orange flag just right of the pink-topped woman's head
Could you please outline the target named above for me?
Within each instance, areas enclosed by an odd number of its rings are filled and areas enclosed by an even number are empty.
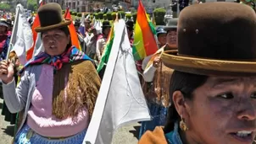
[[[73,22],[73,19],[70,14],[70,8],[67,8],[66,13],[64,15],[64,19],[69,19]],[[81,45],[79,44],[79,40],[78,40],[76,30],[75,30],[75,25],[73,23],[71,23],[69,25],[69,29],[70,29],[70,37],[71,37],[72,45],[75,45],[75,47],[77,49],[81,50]]]

